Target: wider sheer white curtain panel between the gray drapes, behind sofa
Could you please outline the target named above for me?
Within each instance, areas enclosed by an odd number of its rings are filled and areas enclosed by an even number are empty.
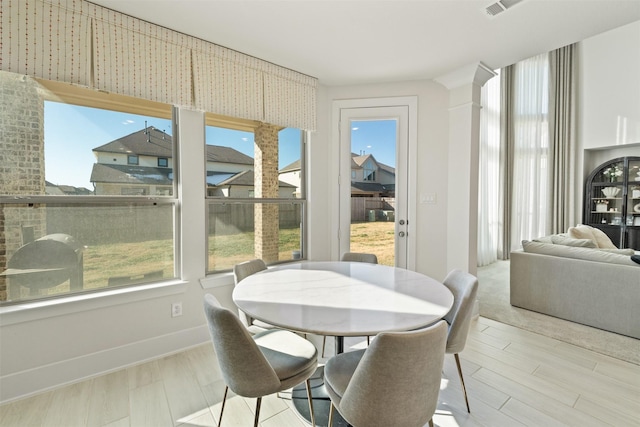
[[[549,56],[515,67],[511,249],[547,234],[549,204]]]

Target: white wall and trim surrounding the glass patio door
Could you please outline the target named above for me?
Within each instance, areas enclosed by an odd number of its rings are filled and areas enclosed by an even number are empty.
[[[418,97],[418,170],[415,194],[437,193],[436,204],[417,204],[415,221],[417,240],[416,270],[437,279],[447,273],[447,159],[448,159],[448,91],[431,80],[321,87],[318,97],[318,132],[312,135],[312,162],[309,176],[309,258],[328,259],[336,245],[338,226],[337,176],[327,176],[327,167],[338,160],[338,143],[332,140],[332,105],[336,100]],[[335,169],[337,170],[337,168]],[[327,230],[330,230],[328,233]],[[337,253],[334,250],[333,253]]]

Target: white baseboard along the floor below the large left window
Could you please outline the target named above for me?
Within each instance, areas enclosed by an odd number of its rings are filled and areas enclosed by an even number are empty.
[[[0,404],[201,345],[211,338],[206,325],[109,348],[0,377]]]

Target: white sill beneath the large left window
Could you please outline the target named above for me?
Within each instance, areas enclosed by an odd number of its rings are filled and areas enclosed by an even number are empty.
[[[0,307],[0,326],[175,295],[184,292],[186,286],[187,282],[183,280],[172,280],[110,289],[104,292],[70,295],[69,297],[55,298],[46,301],[26,301],[21,304]]]

